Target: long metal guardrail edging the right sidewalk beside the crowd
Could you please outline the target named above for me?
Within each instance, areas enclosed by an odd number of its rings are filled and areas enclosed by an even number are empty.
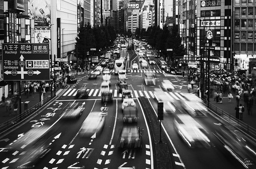
[[[245,124],[241,120],[233,117],[232,115],[228,114],[226,111],[220,109],[219,107],[215,106],[214,104],[209,103],[207,100],[203,100],[204,105],[208,107],[210,110],[215,112],[216,116],[220,116],[221,118],[225,119],[229,124],[237,127],[239,130],[247,133],[249,136],[256,140],[256,129],[253,127]]]

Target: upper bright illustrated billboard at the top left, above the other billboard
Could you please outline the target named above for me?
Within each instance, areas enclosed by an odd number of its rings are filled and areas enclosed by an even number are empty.
[[[35,20],[35,26],[49,26],[51,24],[51,1],[28,0],[28,15]]]

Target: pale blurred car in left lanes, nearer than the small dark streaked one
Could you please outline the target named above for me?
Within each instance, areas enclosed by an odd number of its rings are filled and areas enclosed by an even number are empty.
[[[105,124],[106,112],[92,111],[83,121],[79,134],[84,137],[97,136]]]

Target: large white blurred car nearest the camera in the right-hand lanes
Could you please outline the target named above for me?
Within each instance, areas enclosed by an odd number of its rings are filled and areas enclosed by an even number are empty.
[[[191,116],[179,114],[175,117],[174,127],[190,148],[210,148],[210,140],[204,128]]]

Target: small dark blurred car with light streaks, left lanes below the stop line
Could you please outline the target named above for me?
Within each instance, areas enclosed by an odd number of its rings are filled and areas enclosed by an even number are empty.
[[[68,108],[62,111],[60,114],[63,119],[78,119],[83,113],[84,107],[78,106],[78,103],[75,105],[70,104]]]

